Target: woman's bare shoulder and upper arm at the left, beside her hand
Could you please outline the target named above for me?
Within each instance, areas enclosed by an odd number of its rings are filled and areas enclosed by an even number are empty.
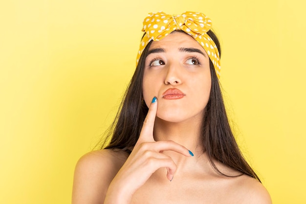
[[[76,164],[72,204],[103,204],[109,183],[127,155],[113,150],[97,150],[84,155]]]

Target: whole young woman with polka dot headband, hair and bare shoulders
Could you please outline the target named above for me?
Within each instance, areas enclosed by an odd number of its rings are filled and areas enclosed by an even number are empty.
[[[152,13],[110,143],[77,163],[73,204],[271,204],[243,159],[204,14]]]

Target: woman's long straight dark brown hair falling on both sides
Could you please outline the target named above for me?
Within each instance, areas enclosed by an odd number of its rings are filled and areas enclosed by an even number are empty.
[[[217,45],[221,57],[221,47],[217,36],[211,30],[209,30],[207,34]],[[108,135],[105,137],[106,139],[104,140],[102,149],[116,149],[130,154],[138,140],[143,121],[148,113],[148,107],[142,100],[142,80],[145,60],[151,43],[152,41],[146,46],[139,59],[139,63],[123,96],[115,120],[109,127]],[[213,168],[220,175],[228,176],[217,168],[214,159],[241,172],[240,175],[246,174],[260,181],[257,174],[243,158],[235,137],[233,136],[226,115],[219,80],[211,60],[210,72],[212,88],[209,101],[205,108],[206,112],[204,114],[201,130],[201,142],[204,152],[207,154]]]

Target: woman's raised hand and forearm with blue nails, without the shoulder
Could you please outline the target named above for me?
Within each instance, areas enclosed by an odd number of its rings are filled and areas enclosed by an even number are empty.
[[[105,204],[129,204],[133,193],[159,168],[167,169],[167,179],[171,181],[176,165],[171,157],[162,153],[163,151],[175,151],[191,157],[187,148],[172,140],[154,140],[153,127],[156,112],[157,99],[154,97],[131,155],[109,185]]]

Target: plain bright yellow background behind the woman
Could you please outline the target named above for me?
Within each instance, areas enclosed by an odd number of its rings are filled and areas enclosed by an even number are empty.
[[[0,203],[70,203],[74,166],[109,125],[149,12],[199,11],[222,45],[241,149],[274,204],[305,204],[302,0],[2,0]]]

